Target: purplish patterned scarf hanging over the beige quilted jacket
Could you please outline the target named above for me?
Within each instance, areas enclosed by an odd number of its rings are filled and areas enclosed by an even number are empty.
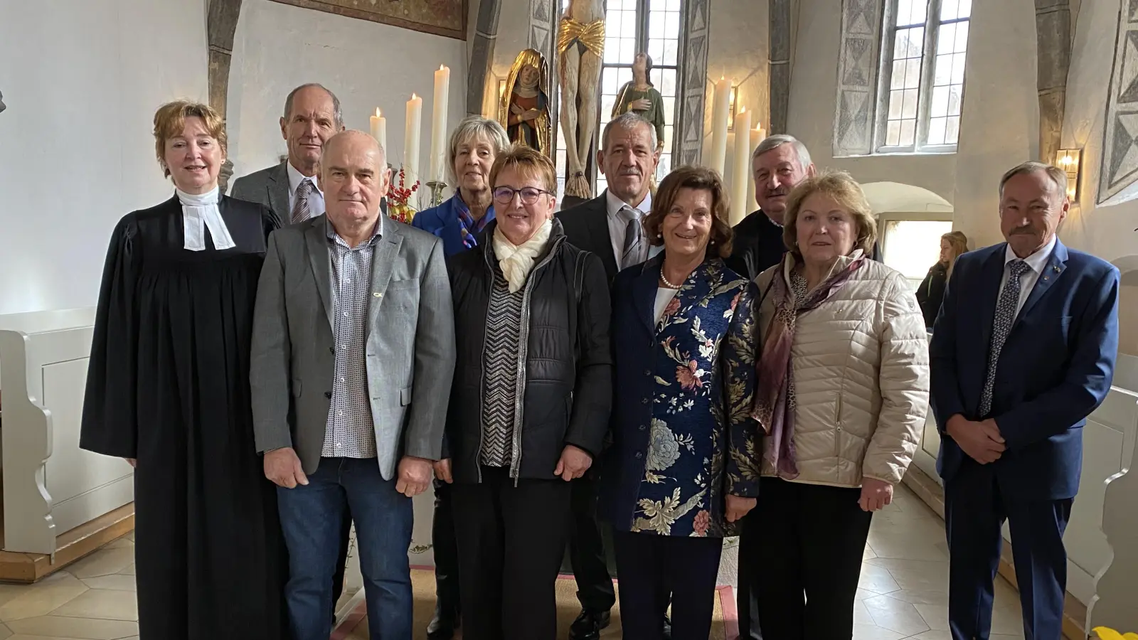
[[[795,305],[794,292],[786,281],[787,263],[794,261],[787,253],[778,263],[778,270],[770,281],[775,315],[767,327],[762,340],[762,354],[758,363],[758,384],[754,389],[754,409],[751,417],[758,420],[767,438],[764,443],[764,458],[775,468],[778,477],[794,479],[798,477],[798,463],[794,460],[794,364],[791,359],[791,347],[794,344],[794,330],[798,317],[817,309],[831,295],[849,280],[865,256],[858,255],[836,273],[832,273],[824,282],[806,295],[801,305]],[[790,269],[797,268],[791,263]],[[760,303],[761,304],[761,303]]]

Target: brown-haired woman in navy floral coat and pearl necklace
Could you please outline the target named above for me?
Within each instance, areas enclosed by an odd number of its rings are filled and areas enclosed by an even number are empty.
[[[601,506],[615,528],[625,638],[676,640],[711,627],[723,536],[754,506],[753,285],[731,253],[718,174],[677,169],[644,229],[663,251],[613,282],[613,445]]]

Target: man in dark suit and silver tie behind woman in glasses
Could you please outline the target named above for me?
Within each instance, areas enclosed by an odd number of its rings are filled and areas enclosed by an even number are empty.
[[[644,262],[653,253],[641,221],[652,210],[650,180],[659,161],[651,123],[635,113],[613,118],[604,126],[596,153],[596,165],[608,180],[608,189],[558,213],[569,243],[599,255],[610,282],[618,271]],[[609,610],[617,600],[596,522],[596,474],[589,471],[572,483],[569,559],[582,612],[569,629],[569,638],[596,640],[609,625]]]

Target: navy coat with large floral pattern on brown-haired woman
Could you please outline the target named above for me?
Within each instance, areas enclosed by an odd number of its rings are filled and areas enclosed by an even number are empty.
[[[756,497],[754,286],[708,260],[659,322],[662,257],[613,282],[613,445],[601,514],[617,531],[723,536],[726,494]]]

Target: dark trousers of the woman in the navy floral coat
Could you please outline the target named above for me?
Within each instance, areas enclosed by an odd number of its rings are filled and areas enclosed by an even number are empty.
[[[706,640],[711,633],[723,539],[617,532],[612,543],[624,637],[662,640],[670,604],[671,638]]]

